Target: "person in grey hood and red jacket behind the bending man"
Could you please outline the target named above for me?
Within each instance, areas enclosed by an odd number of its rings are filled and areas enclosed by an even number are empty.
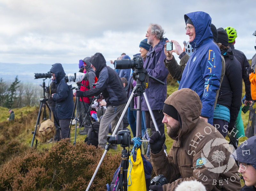
[[[80,87],[80,91],[87,91],[91,88],[93,88],[92,84],[96,83],[96,75],[94,70],[91,67],[91,57],[85,57],[82,61],[83,61],[83,66],[84,66],[84,73],[86,73],[86,77],[87,80],[83,80],[81,82],[81,87]],[[80,97],[80,104],[79,104],[79,127],[81,127],[84,121],[84,118],[86,116],[86,111],[89,111],[90,108],[90,98],[89,97],[83,97],[84,103],[85,103],[85,107],[83,105],[83,101],[82,101],[82,97]],[[90,113],[90,111],[89,111]],[[80,118],[81,117],[81,118]],[[90,122],[90,116],[87,116],[87,118],[84,121],[84,130],[80,132],[80,135],[85,135],[88,133],[89,127],[91,126],[91,122]]]

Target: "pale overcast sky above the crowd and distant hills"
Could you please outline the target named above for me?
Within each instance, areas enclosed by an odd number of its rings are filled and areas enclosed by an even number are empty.
[[[217,28],[236,28],[235,48],[251,59],[255,7],[255,0],[0,0],[0,62],[74,64],[96,52],[107,61],[123,52],[132,57],[150,23],[182,44],[184,14],[193,11],[209,13]]]

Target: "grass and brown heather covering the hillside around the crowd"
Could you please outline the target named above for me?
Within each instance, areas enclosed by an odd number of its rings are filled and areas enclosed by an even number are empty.
[[[177,89],[176,81],[168,83],[167,96]],[[75,125],[71,126],[70,142],[61,140],[47,144],[38,141],[35,148],[35,140],[30,148],[38,110],[39,107],[30,106],[13,109],[15,120],[9,122],[6,120],[8,108],[0,107],[0,190],[85,190],[103,150],[84,144],[86,135],[79,134],[74,147]],[[248,116],[249,112],[242,112],[244,127]],[[239,144],[245,139],[241,138]],[[172,143],[173,140],[166,137],[167,152]],[[120,164],[121,150],[118,145],[117,150],[108,151],[91,190],[106,190],[106,183],[111,182]]]

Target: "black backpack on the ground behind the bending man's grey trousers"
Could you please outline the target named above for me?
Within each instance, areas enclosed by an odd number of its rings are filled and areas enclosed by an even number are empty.
[[[100,129],[100,122],[93,122],[92,127],[89,128],[87,137],[84,139],[84,142],[87,145],[94,145],[95,147],[98,147],[99,141],[99,129]]]

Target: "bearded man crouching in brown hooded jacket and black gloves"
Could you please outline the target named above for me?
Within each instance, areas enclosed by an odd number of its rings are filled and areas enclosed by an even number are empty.
[[[202,103],[189,88],[172,93],[164,101],[164,118],[172,148],[164,153],[165,134],[151,135],[150,159],[156,174],[168,184],[153,185],[151,190],[171,191],[183,181],[197,180],[206,190],[238,191],[241,188],[236,162],[228,142],[215,127],[200,118]]]

